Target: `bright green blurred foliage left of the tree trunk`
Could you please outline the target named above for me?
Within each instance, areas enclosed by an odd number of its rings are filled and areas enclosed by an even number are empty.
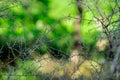
[[[72,44],[69,47],[67,44],[73,41],[70,35],[73,32],[74,20],[66,16],[76,15],[75,5],[70,5],[70,0],[20,1],[21,3],[14,2],[16,6],[8,5],[6,11],[11,12],[10,17],[0,18],[0,35],[6,37],[1,38],[1,41],[14,42],[16,39],[22,39],[23,42],[27,41],[29,42],[27,44],[31,44],[42,37],[46,45],[48,40],[53,40],[48,45],[65,52],[70,50]],[[11,5],[14,7],[9,7]],[[42,45],[41,50],[45,52]]]

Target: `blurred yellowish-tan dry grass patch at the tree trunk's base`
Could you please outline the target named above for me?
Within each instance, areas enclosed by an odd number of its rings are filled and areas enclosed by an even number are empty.
[[[78,66],[71,63],[71,61],[56,60],[49,54],[45,54],[41,58],[37,58],[35,61],[38,62],[36,63],[38,73],[49,74],[52,77],[66,76],[67,78],[75,79],[80,76],[85,76],[89,78],[92,76],[91,73],[100,70],[100,66],[94,61],[82,60],[83,62]]]

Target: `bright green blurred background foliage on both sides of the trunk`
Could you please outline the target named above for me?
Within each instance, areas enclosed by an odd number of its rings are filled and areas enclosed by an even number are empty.
[[[92,3],[86,0],[91,8],[95,8]],[[102,0],[99,1],[99,3]],[[73,45],[73,32],[75,26],[74,17],[77,16],[77,8],[73,0],[16,0],[0,2],[0,8],[7,6],[7,10],[0,12],[6,17],[0,17],[0,41],[15,41],[22,39],[23,42],[28,42],[31,45],[38,38],[42,40],[43,45],[40,45],[39,52],[46,53],[49,47],[61,50],[65,53],[70,53]],[[101,9],[104,8],[106,15],[111,13],[111,7],[114,7],[114,2],[109,4],[109,0],[105,4],[100,4]],[[8,12],[9,14],[7,14]],[[94,11],[95,16],[100,17],[97,10]],[[72,18],[71,18],[72,17]],[[95,23],[89,23],[89,20],[94,19],[93,13],[84,8],[83,18],[81,23],[80,34],[82,42],[86,43],[89,48],[97,42],[100,31],[96,30]],[[113,20],[118,18],[114,16]],[[89,34],[89,35],[88,35]],[[4,38],[3,38],[4,36]],[[6,38],[5,38],[6,37]],[[45,44],[45,45],[44,45]]]

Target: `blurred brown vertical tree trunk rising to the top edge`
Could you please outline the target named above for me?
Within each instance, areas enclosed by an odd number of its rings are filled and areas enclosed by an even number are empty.
[[[80,22],[82,20],[82,6],[81,6],[81,3],[82,1],[81,0],[76,0],[76,5],[77,5],[77,8],[78,8],[78,16],[76,18],[76,21],[75,21],[75,27],[74,27],[74,35],[73,35],[73,38],[74,38],[74,46],[73,46],[73,50],[71,52],[71,55],[70,55],[70,61],[72,63],[72,65],[74,65],[73,67],[79,67],[79,64],[83,61],[83,57],[80,56],[80,51],[81,51],[81,37],[80,37]]]

